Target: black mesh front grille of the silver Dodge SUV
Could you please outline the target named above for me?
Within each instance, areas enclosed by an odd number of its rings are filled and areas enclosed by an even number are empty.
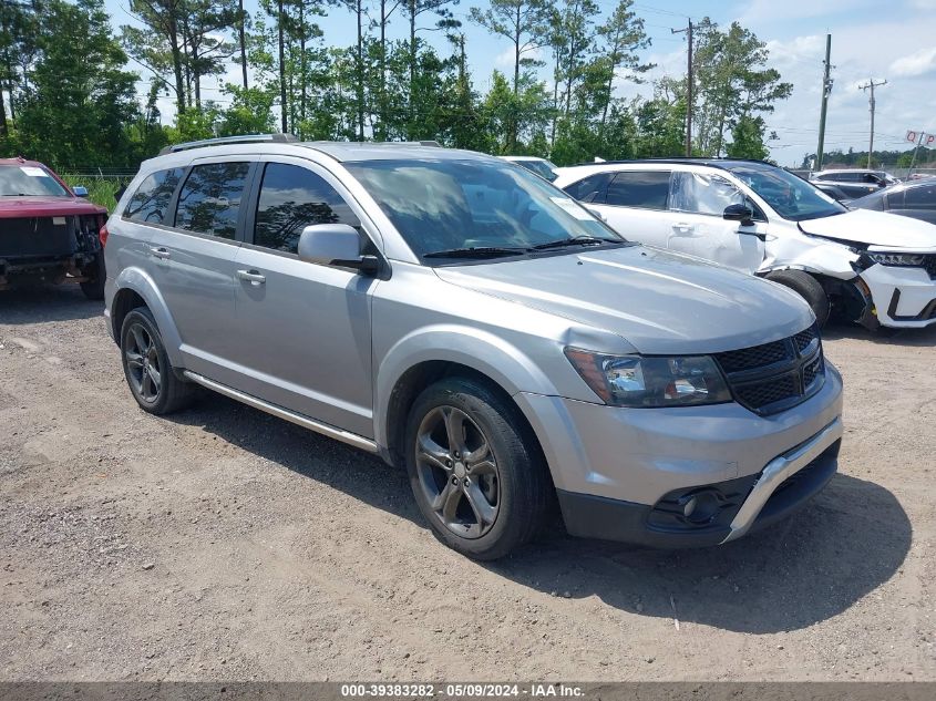
[[[811,327],[783,339],[716,355],[734,399],[759,414],[795,406],[815,394],[825,379],[822,340]]]

